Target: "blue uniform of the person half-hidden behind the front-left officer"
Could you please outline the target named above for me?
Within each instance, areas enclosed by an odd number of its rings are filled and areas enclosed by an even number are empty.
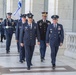
[[[23,24],[21,21],[19,21],[17,24],[17,27],[16,27],[16,40],[18,40],[17,48],[20,53],[20,62],[21,63],[23,63],[23,61],[25,61],[25,49],[24,49],[24,47],[20,46],[20,33],[21,33],[22,25],[26,25],[26,23]]]

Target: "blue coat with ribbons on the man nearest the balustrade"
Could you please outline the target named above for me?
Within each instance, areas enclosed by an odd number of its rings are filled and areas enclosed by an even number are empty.
[[[63,41],[63,26],[61,24],[57,24],[57,27],[54,28],[53,24],[49,25],[46,33],[46,43],[50,43],[51,46],[59,46],[60,43],[63,43]]]

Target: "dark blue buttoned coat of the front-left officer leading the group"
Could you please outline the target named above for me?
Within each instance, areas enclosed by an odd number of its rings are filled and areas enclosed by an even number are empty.
[[[23,25],[20,35],[21,43],[24,43],[25,45],[33,46],[36,44],[36,37],[40,42],[40,34],[36,23],[34,22],[32,23],[32,29],[30,29],[27,23],[26,25]]]

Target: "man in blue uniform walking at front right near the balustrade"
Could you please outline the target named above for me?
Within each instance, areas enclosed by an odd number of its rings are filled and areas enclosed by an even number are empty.
[[[53,15],[51,18],[53,19],[53,23],[47,28],[46,45],[50,44],[52,68],[55,69],[57,52],[59,46],[62,46],[64,41],[64,30],[63,26],[58,23],[58,15]]]

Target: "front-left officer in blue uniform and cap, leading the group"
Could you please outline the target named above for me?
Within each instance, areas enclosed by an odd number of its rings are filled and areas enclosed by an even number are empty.
[[[36,44],[36,37],[38,39],[38,44],[40,44],[39,30],[35,22],[33,22],[33,14],[28,13],[28,22],[22,27],[21,30],[21,46],[25,47],[25,55],[27,62],[27,69],[30,70],[32,65],[32,56],[34,52],[34,47]]]

